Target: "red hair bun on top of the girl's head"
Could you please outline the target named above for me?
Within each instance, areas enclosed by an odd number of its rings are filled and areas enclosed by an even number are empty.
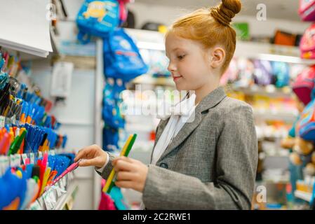
[[[239,0],[222,0],[220,5],[210,8],[210,15],[224,26],[234,18],[235,14],[241,10],[241,1]]]

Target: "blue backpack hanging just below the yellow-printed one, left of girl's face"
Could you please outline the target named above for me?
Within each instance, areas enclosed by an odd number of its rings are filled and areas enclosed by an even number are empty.
[[[137,45],[123,29],[117,28],[104,38],[104,71],[107,78],[125,82],[148,71]]]

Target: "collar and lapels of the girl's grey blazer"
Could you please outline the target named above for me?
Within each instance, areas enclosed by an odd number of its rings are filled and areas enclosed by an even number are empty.
[[[157,163],[163,160],[163,158],[165,158],[166,155],[168,155],[168,153],[173,151],[177,146],[179,146],[183,141],[185,141],[187,137],[189,137],[189,134],[191,134],[196,129],[196,127],[198,127],[198,125],[201,123],[202,113],[204,111],[208,111],[210,108],[213,108],[214,106],[219,104],[225,97],[226,94],[224,92],[223,87],[217,87],[217,89],[213,90],[213,92],[210,92],[206,97],[204,97],[199,103],[199,105],[196,106],[194,120],[191,123],[185,123],[180,132],[178,132],[178,134],[174,137],[173,141],[170,142],[170,144],[168,145],[164,153],[161,155],[161,158],[159,158]],[[164,128],[166,127],[168,120],[164,120],[164,123],[161,124],[163,125],[163,129],[159,128],[159,134],[156,134],[157,141],[159,140],[158,136],[161,137],[161,134]]]

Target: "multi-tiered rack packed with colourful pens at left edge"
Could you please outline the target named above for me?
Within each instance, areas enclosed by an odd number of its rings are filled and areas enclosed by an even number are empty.
[[[55,202],[68,197],[73,174],[54,180],[74,153],[65,152],[67,136],[57,132],[51,101],[20,82],[20,72],[18,57],[0,51],[0,209],[62,209]]]

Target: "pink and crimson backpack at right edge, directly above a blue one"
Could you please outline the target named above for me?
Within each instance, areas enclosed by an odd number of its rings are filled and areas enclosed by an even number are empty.
[[[295,92],[304,105],[307,105],[311,101],[312,95],[314,95],[314,82],[315,66],[310,66],[297,76],[292,85],[293,92]]]

